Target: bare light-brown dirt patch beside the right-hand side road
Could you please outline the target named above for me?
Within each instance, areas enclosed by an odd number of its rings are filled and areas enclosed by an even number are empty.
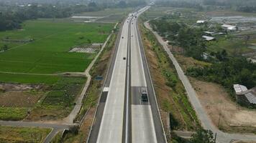
[[[240,107],[218,84],[189,78],[212,122],[227,132],[255,132],[256,111]]]

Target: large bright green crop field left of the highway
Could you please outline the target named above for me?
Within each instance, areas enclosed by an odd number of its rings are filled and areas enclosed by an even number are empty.
[[[37,74],[84,71],[95,54],[68,51],[75,45],[104,42],[112,27],[113,24],[78,24],[50,19],[26,21],[23,29],[0,32],[1,45],[9,47],[9,50],[0,53],[0,71]],[[20,43],[3,39],[33,41]],[[13,75],[1,73],[0,82],[22,82],[22,79],[29,82],[22,78],[22,74],[11,79],[5,78],[8,76]],[[40,80],[40,76],[34,77]]]

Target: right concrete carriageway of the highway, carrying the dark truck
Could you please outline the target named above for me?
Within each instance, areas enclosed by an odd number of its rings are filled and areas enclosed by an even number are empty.
[[[141,100],[140,88],[147,87],[147,83],[136,24],[137,19],[134,19],[131,26],[132,143],[155,143],[157,139],[150,101]]]

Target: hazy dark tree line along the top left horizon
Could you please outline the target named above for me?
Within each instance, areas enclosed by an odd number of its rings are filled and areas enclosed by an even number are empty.
[[[65,18],[72,14],[87,11],[100,11],[106,8],[125,8],[145,5],[145,1],[119,1],[116,4],[30,4],[29,6],[0,5],[0,31],[20,29],[25,20],[38,18]]]

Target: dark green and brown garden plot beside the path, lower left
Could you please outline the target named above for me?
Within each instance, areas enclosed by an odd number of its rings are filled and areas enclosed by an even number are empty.
[[[61,119],[66,117],[75,105],[76,96],[81,93],[82,77],[62,77],[53,84],[44,99],[38,103],[27,117],[29,120]]]

